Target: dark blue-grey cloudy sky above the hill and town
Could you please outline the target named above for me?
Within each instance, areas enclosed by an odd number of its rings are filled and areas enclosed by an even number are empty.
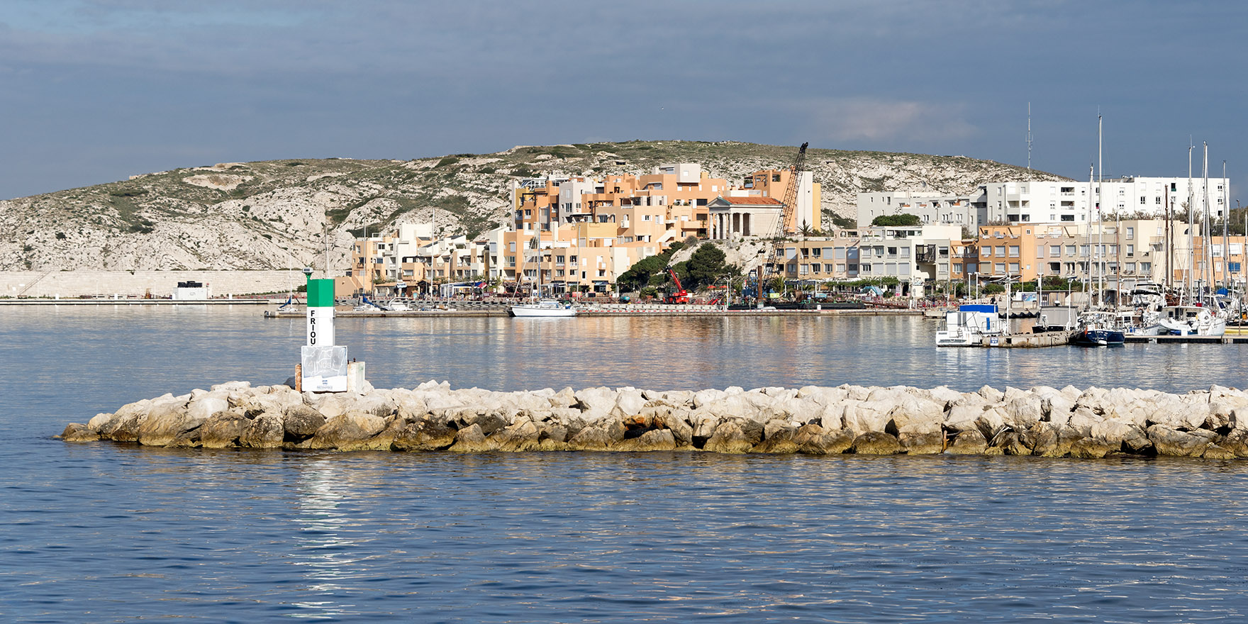
[[[1086,180],[1222,162],[1248,2],[4,0],[0,197],[273,158],[749,141]]]

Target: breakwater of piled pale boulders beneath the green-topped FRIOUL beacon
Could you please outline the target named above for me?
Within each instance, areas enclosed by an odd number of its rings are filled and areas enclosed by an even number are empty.
[[[67,442],[337,451],[1248,457],[1248,393],[807,386],[298,393],[247,382],[71,423]]]

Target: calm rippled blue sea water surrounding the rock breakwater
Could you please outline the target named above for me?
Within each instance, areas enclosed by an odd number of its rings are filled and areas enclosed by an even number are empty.
[[[339,319],[378,387],[1242,386],[1246,347],[919,318]],[[1244,463],[173,451],[51,439],[281,382],[255,308],[0,308],[0,620],[1243,622]]]

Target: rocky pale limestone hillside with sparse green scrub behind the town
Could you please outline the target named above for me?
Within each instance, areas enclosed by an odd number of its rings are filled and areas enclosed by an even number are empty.
[[[786,166],[795,147],[740,142],[629,141],[513,147],[439,158],[226,162],[0,201],[0,270],[223,270],[334,266],[351,238],[437,220],[439,233],[477,235],[508,221],[513,180],[544,173],[643,173],[700,162],[740,180]],[[825,218],[849,216],[855,193],[963,193],[1020,167],[962,156],[810,150]],[[1037,180],[1056,180],[1033,172]],[[926,185],[926,186],[924,186]]]

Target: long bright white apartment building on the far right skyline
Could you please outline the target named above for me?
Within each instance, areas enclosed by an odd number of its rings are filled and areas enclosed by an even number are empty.
[[[1103,182],[991,182],[980,190],[986,222],[1087,223],[1090,201],[1092,208],[1099,206],[1104,218],[1137,213],[1164,218],[1167,210],[1174,213],[1188,205],[1203,213],[1206,196],[1209,215],[1221,218],[1231,182],[1224,177],[1209,178],[1208,193],[1203,178],[1139,176]],[[1096,221],[1094,215],[1091,221]]]

